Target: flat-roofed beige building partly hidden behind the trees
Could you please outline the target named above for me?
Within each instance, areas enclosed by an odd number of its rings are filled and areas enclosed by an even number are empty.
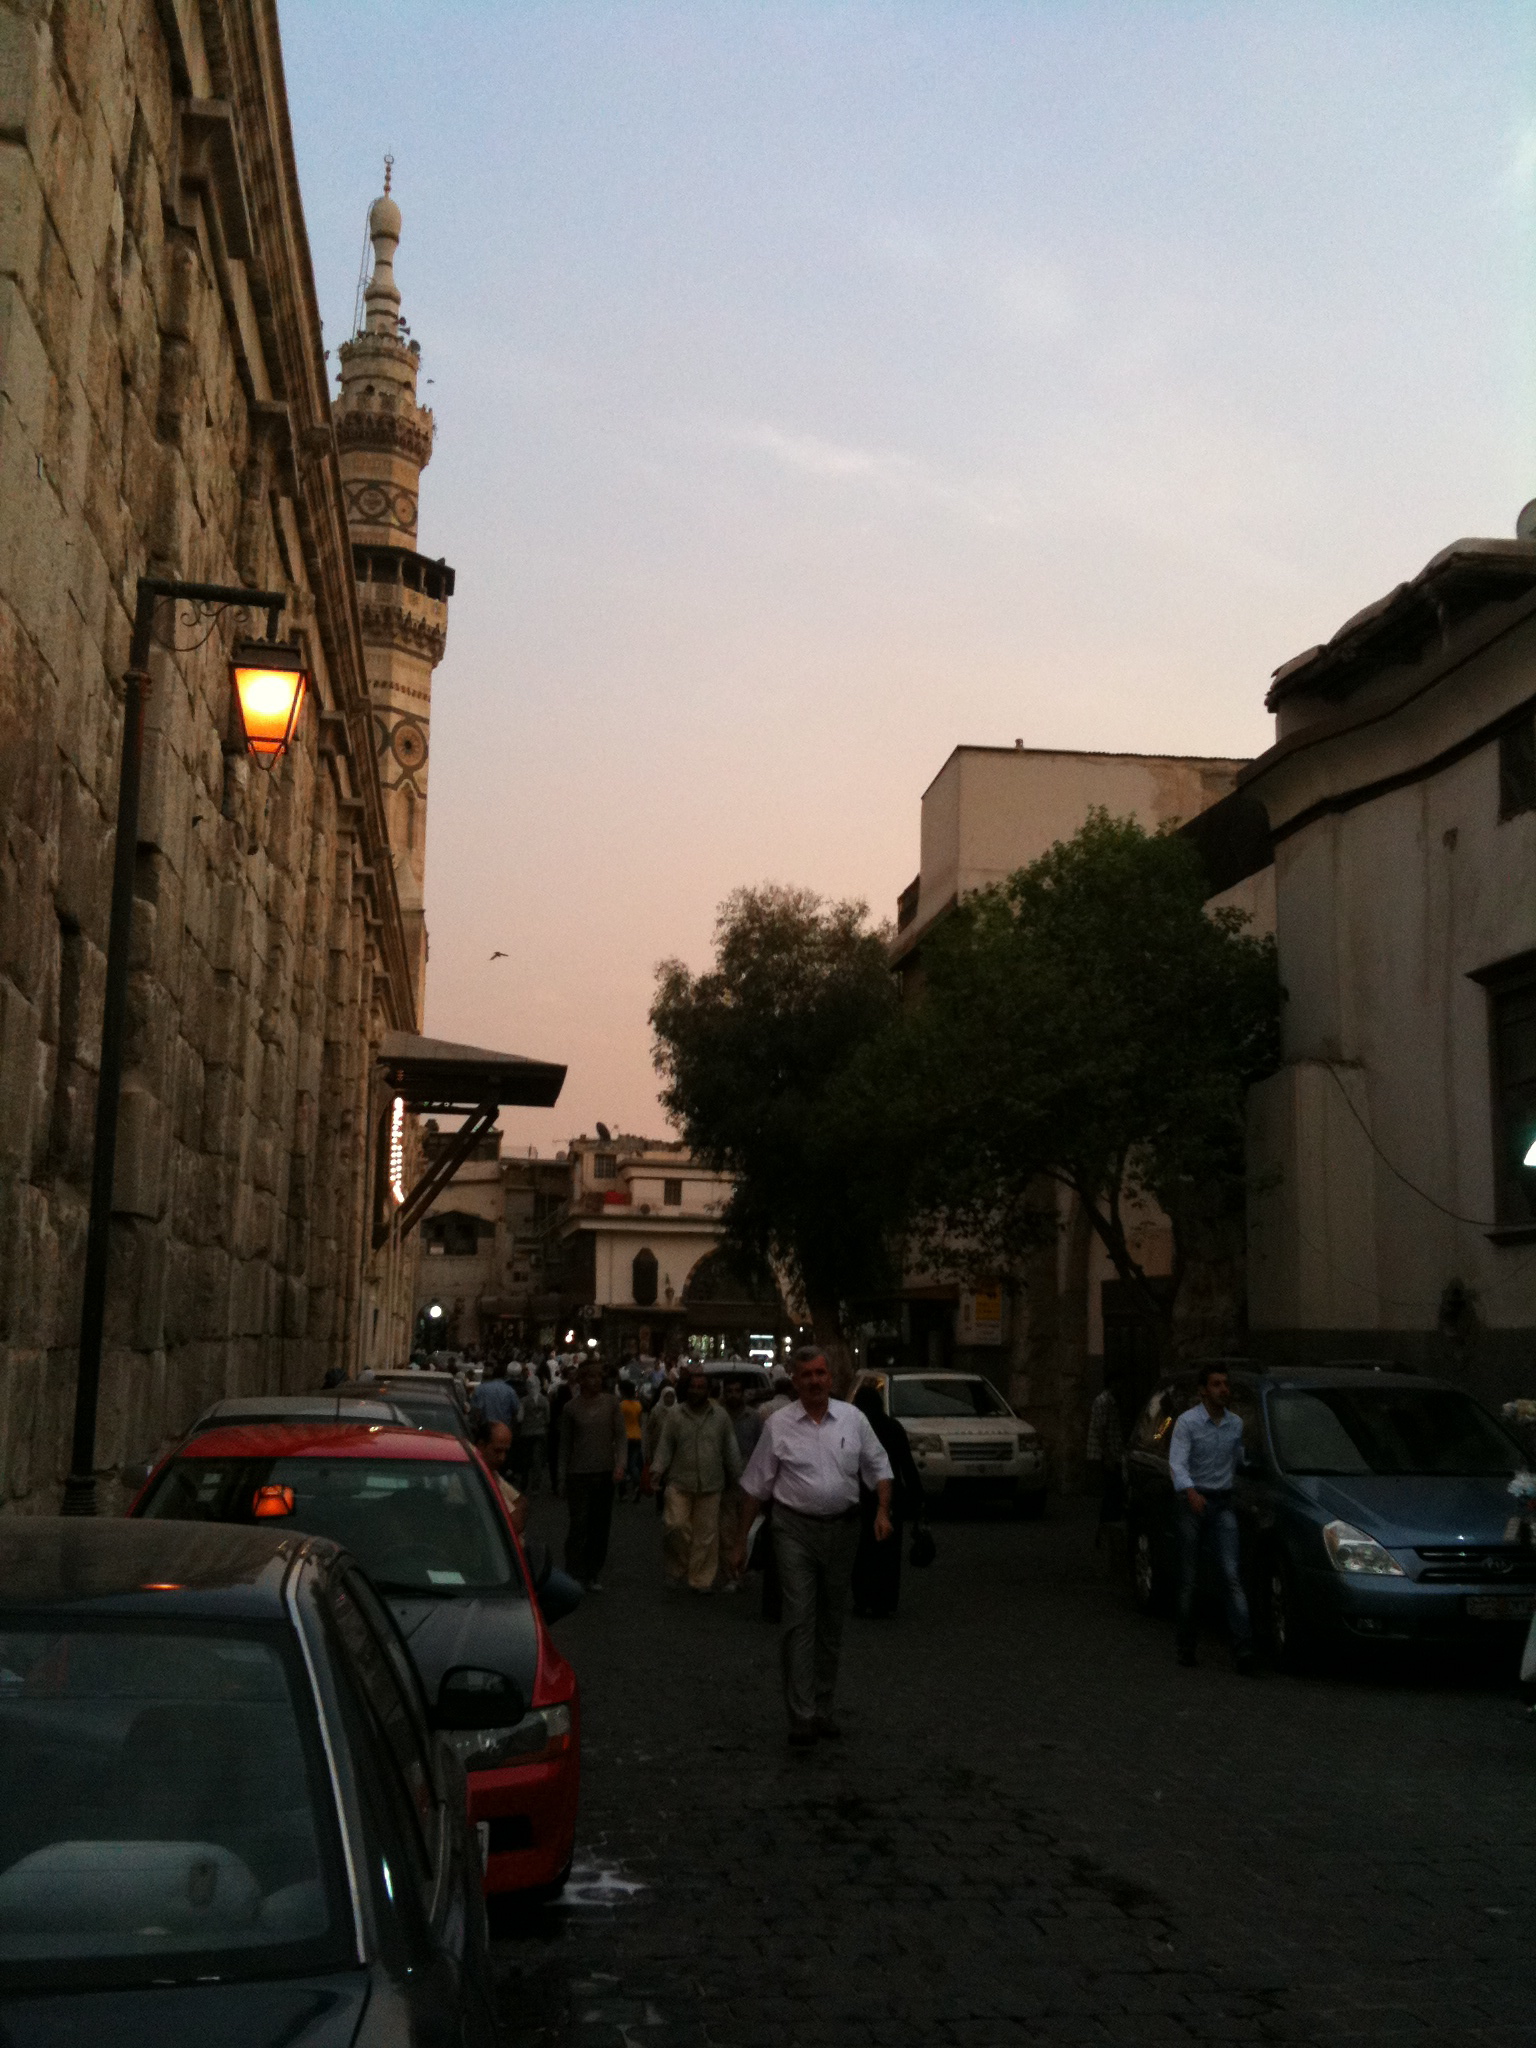
[[[1004,883],[1069,840],[1092,809],[1135,817],[1149,831],[1188,823],[1231,797],[1245,766],[1022,743],[956,748],[924,791],[922,864],[897,905],[891,958],[903,985],[915,985],[924,936],[961,897]],[[1239,877],[1223,901],[1247,911],[1257,932],[1274,928],[1268,870]],[[1065,1190],[1057,1202],[1055,1245],[999,1288],[983,1286],[979,1298],[952,1276],[909,1270],[897,1352],[909,1362],[961,1362],[997,1378],[1044,1436],[1055,1470],[1071,1481],[1106,1360],[1139,1382],[1155,1370],[1155,1348],[1139,1300],[1116,1278],[1081,1204]],[[1139,1219],[1130,1249],[1151,1276],[1169,1274],[1174,1245],[1159,1210]],[[1194,1274],[1186,1280],[1186,1313],[1221,1337],[1241,1315],[1239,1286],[1237,1272]]]

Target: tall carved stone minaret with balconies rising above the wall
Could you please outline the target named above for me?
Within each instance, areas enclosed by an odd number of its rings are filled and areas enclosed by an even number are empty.
[[[334,420],[362,606],[373,733],[420,1026],[432,670],[449,639],[453,569],[440,557],[432,561],[416,553],[416,498],[432,459],[434,426],[426,406],[416,403],[422,344],[406,342],[410,328],[399,317],[399,207],[389,197],[389,174],[391,160],[385,158],[385,188],[369,209],[373,276],[362,295],[365,319],[340,346],[342,389]]]

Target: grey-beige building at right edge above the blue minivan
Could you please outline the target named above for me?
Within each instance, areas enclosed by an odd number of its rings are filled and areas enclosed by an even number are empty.
[[[1212,883],[1272,877],[1288,997],[1255,1348],[1536,1393],[1534,678],[1536,541],[1458,541],[1276,672],[1276,743],[1206,819]]]

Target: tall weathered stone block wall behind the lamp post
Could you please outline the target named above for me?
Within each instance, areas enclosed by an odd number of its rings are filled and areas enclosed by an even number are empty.
[[[0,0],[0,1505],[12,1511],[51,1511],[68,1462],[117,678],[141,573],[287,590],[311,690],[295,748],[262,772],[240,748],[227,680],[240,621],[162,606],[106,1473],[219,1395],[403,1358],[412,1276],[397,1249],[369,1249],[371,1151],[377,1040],[416,1022],[274,0]]]

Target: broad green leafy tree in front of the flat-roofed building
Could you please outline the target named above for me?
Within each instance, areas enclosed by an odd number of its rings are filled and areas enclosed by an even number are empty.
[[[1247,1090],[1280,1057],[1274,942],[1204,893],[1188,840],[1094,811],[930,934],[870,1055],[903,1102],[920,1241],[1014,1272],[1069,1188],[1165,1348],[1192,1235],[1241,1192]],[[1174,1229],[1167,1288],[1130,1249],[1143,1196]]]

